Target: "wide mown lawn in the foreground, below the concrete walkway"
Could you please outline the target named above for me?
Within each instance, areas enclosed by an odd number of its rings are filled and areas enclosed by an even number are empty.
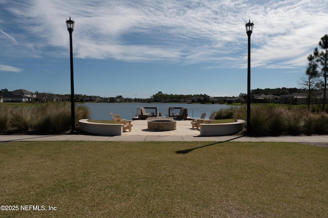
[[[328,149],[299,143],[10,142],[0,164],[2,217],[328,216]]]

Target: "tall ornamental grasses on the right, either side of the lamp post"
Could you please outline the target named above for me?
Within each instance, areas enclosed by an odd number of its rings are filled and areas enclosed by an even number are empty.
[[[216,117],[232,114],[234,119],[247,120],[246,107],[221,109]],[[302,106],[269,104],[251,105],[251,134],[253,136],[328,134],[328,115],[313,113]]]

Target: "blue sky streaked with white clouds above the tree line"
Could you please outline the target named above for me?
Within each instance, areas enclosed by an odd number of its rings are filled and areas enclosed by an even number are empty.
[[[328,34],[326,0],[0,0],[0,89],[149,98],[299,87],[306,57]]]

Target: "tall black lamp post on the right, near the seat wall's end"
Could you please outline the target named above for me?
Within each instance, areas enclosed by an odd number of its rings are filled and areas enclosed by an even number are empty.
[[[251,133],[251,35],[254,22],[251,19],[246,23],[246,33],[248,36],[248,71],[247,71],[247,133]]]

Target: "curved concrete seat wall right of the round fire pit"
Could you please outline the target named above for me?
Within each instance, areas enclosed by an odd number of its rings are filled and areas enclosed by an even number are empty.
[[[233,135],[243,129],[245,120],[236,119],[234,123],[226,124],[200,124],[200,136]]]

